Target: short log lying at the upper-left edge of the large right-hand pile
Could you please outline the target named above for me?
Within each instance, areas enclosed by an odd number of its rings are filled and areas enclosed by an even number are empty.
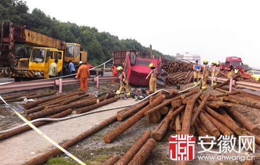
[[[148,103],[149,103],[149,100],[144,100],[142,102],[138,102],[137,104],[131,106],[131,108],[129,110],[124,111],[122,113],[119,113],[117,115],[117,120],[122,121],[126,117],[128,117],[128,116],[132,115],[133,113],[137,112],[140,108],[143,108],[144,106],[146,106]]]

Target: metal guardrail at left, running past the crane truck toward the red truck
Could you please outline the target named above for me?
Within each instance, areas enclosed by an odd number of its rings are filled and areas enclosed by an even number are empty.
[[[97,82],[97,87],[100,81],[110,81],[119,79],[117,76],[98,76],[88,78],[88,81]],[[60,82],[62,82],[60,84]],[[80,83],[80,78],[60,78],[60,79],[42,79],[42,80],[31,80],[31,81],[20,81],[20,82],[10,82],[7,84],[0,85],[0,93],[36,89],[42,87],[60,86],[68,84]]]

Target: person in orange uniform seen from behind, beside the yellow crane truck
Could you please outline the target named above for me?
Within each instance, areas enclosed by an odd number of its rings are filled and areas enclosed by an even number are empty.
[[[80,61],[80,67],[76,75],[76,79],[80,76],[80,90],[88,90],[88,75],[90,75],[89,68],[82,61]]]

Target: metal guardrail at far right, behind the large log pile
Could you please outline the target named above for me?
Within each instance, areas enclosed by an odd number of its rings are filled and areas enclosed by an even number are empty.
[[[212,77],[208,77],[209,80],[212,79]],[[217,82],[224,82],[228,80],[229,78],[225,77],[217,77]],[[242,87],[242,88],[248,88],[252,90],[258,90],[260,91],[260,82],[253,82],[253,81],[247,81],[247,80],[233,80],[233,85],[237,87]]]

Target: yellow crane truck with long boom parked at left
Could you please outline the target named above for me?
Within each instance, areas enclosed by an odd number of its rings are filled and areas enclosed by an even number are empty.
[[[28,48],[17,47],[21,44],[34,46],[31,55]],[[69,60],[75,68],[79,61],[87,61],[87,51],[79,43],[67,43],[12,22],[2,23],[0,68],[5,77],[14,77],[15,81],[49,78],[49,66],[55,59],[62,76]]]

